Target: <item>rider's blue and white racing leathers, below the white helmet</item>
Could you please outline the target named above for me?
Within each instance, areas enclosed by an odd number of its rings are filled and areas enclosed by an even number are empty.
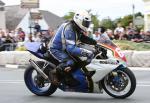
[[[74,60],[69,55],[87,58],[93,56],[91,51],[77,47],[77,41],[90,45],[96,45],[97,43],[95,40],[83,35],[81,29],[74,21],[63,23],[51,41],[50,51],[59,60],[63,70],[65,67],[74,65]]]

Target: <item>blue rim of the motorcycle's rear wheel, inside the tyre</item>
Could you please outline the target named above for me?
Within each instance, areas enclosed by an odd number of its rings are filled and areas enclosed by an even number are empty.
[[[43,93],[49,90],[51,83],[49,83],[48,81],[44,81],[44,85],[39,86],[37,84],[37,79],[37,71],[32,70],[28,75],[28,85],[32,91]]]

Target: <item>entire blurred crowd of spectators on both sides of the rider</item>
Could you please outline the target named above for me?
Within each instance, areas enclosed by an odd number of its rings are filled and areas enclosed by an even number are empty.
[[[9,50],[11,47],[16,47],[18,42],[41,42],[42,39],[49,41],[55,34],[54,29],[39,30],[39,27],[35,28],[35,32],[26,34],[22,28],[18,28],[14,31],[3,30],[0,28],[0,51]],[[85,35],[93,38],[97,41],[101,41],[103,38],[110,40],[129,40],[133,42],[150,42],[150,30],[144,32],[133,28],[132,23],[128,27],[123,28],[120,23],[114,30],[104,27],[98,28],[98,30],[92,33],[91,31],[85,33]]]

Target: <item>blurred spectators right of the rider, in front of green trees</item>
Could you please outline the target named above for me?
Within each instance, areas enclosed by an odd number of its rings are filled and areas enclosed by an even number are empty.
[[[130,24],[132,25],[132,23]],[[128,40],[133,42],[150,42],[150,30],[144,32],[143,29],[137,30],[132,26],[128,26],[123,28],[119,23],[114,30],[105,29],[104,27],[100,27],[100,30],[94,32],[94,34],[90,34],[89,36],[95,40],[99,40],[102,34],[107,34],[110,40]]]

